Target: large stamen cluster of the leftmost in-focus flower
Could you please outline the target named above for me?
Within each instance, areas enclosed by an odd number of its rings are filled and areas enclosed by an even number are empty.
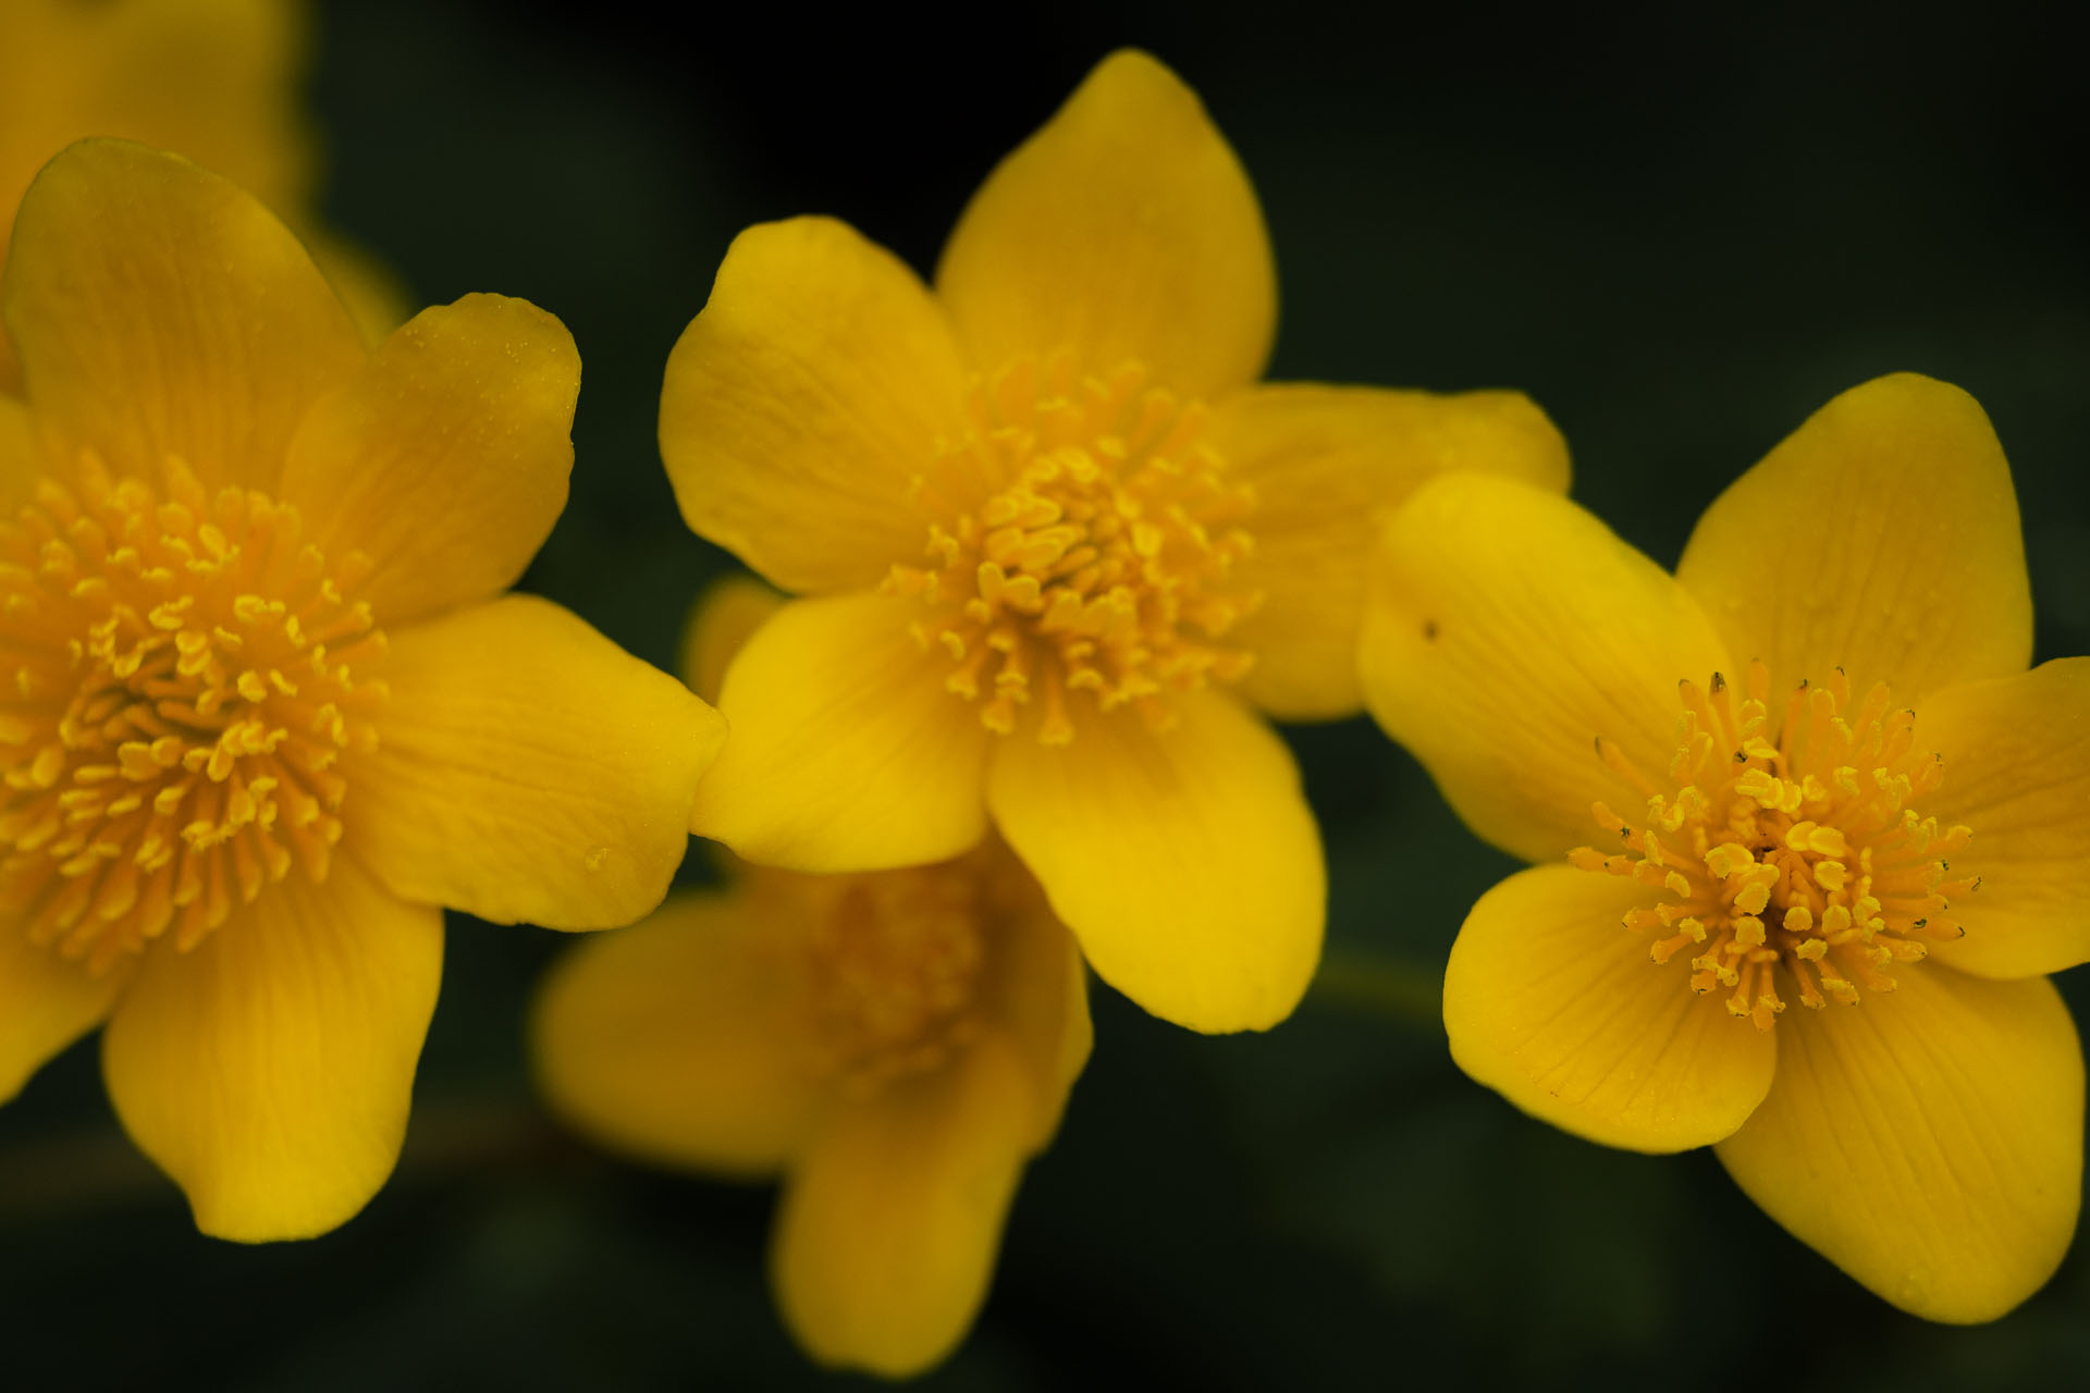
[[[334,762],[385,698],[385,635],[343,597],[366,572],[180,459],[165,497],[92,453],[40,478],[0,522],[0,913],[107,971],[169,927],[192,948],[293,865],[324,879]]]

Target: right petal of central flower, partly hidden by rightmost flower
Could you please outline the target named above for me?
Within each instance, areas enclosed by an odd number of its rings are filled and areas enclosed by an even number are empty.
[[[1356,633],[1384,512],[1446,470],[1568,489],[1568,443],[1522,393],[1254,386],[1214,411],[1210,439],[1256,489],[1256,549],[1239,581],[1262,608],[1229,641],[1256,656],[1241,691],[1281,721],[1365,702]]]

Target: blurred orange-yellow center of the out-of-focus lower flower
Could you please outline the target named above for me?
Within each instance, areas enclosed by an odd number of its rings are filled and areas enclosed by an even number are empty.
[[[978,1036],[989,888],[976,860],[842,877],[815,921],[813,1036],[844,1088],[876,1092]]]

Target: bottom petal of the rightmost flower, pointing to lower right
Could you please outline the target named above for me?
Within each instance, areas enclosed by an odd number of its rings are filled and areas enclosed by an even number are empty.
[[[1787,1011],[1779,1078],[1720,1161],[1795,1238],[1925,1320],[1994,1320],[2052,1276],[2082,1197],[2084,1059],[2046,979],[1900,973]]]

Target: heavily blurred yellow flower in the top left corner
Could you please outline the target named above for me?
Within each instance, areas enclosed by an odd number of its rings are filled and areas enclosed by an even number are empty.
[[[318,142],[297,100],[307,27],[299,0],[0,0],[0,261],[29,180],[84,136],[178,150],[316,234]],[[368,257],[314,246],[366,332],[405,317]],[[0,391],[21,391],[4,334]]]

